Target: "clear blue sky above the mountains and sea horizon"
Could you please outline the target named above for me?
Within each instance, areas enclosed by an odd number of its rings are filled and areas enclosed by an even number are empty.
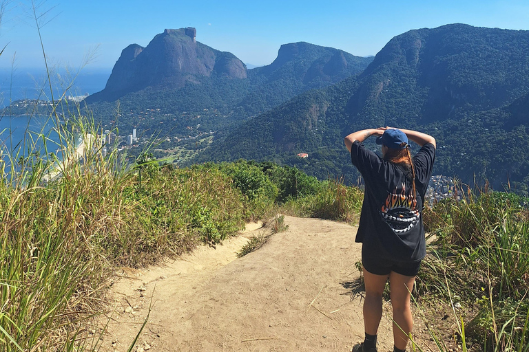
[[[4,1],[5,2],[5,1]],[[1,3],[1,0],[0,0]],[[0,25],[0,68],[43,67],[31,1],[8,2]],[[165,28],[195,27],[197,41],[268,65],[296,41],[375,55],[393,36],[448,23],[529,30],[529,1],[35,1],[45,52],[54,65],[110,72],[121,50],[146,46]]]

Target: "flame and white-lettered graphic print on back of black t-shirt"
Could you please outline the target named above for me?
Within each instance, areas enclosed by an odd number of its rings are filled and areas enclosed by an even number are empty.
[[[401,191],[395,187],[380,210],[384,221],[397,234],[411,230],[419,221],[417,199],[413,197],[411,192],[406,192],[405,184],[402,184],[400,188],[402,188]]]

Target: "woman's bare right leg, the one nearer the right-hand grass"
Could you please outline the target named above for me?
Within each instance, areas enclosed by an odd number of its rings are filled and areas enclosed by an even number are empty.
[[[397,349],[406,349],[408,336],[413,328],[410,307],[413,283],[415,283],[415,276],[404,276],[396,272],[389,274],[391,305],[393,306],[393,340]]]

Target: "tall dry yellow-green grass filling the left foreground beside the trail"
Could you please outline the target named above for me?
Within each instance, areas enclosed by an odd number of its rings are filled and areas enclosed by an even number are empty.
[[[0,183],[0,338],[8,351],[63,343],[79,326],[73,322],[98,307],[107,277],[87,228],[114,227],[120,210],[104,203],[113,203],[124,179],[109,162],[115,155],[103,160],[88,148],[78,162],[69,133],[59,132],[62,161],[34,146],[30,157],[8,161],[10,176]],[[53,173],[62,177],[45,186]]]

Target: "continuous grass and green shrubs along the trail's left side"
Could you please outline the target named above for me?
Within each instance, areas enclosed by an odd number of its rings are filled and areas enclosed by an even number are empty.
[[[62,160],[39,150],[1,164],[13,166],[2,168],[0,184],[0,341],[8,351],[94,347],[98,338],[81,327],[101,310],[114,265],[218,243],[276,201],[326,189],[295,168],[243,160],[177,169],[144,153],[127,167],[116,151],[103,157],[95,140],[78,162],[76,136],[90,140],[98,129],[80,117],[67,125]],[[274,228],[284,229],[282,218]]]

